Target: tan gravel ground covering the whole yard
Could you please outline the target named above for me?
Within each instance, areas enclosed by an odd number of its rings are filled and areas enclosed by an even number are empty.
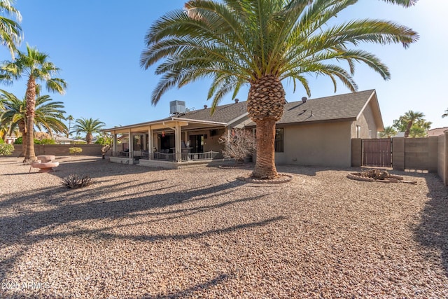
[[[178,170],[0,158],[0,298],[448,298],[448,188],[282,166]],[[95,183],[66,189],[60,178]]]

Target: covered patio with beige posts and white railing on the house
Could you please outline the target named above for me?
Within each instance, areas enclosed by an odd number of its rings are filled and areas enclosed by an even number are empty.
[[[223,160],[227,123],[171,117],[104,130],[113,135],[111,162],[176,169]],[[127,141],[127,142],[126,142]]]

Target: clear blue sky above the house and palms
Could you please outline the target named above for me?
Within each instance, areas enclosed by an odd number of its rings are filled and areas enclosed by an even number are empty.
[[[184,0],[17,0],[22,13],[25,42],[50,56],[62,69],[59,76],[69,84],[66,95],[51,94],[64,102],[66,115],[99,118],[106,127],[130,125],[169,116],[169,102],[181,100],[191,109],[207,102],[209,82],[200,81],[165,94],[157,106],[151,105],[151,92],[160,77],[154,68],[143,70],[139,57],[144,35],[151,24],[168,11],[182,8]],[[448,109],[446,97],[448,30],[446,0],[420,0],[412,8],[391,6],[380,0],[360,0],[339,15],[336,22],[356,18],[393,20],[416,30],[420,40],[408,49],[400,45],[363,45],[378,55],[391,69],[391,80],[384,81],[374,71],[359,65],[354,76],[359,90],[376,89],[384,125],[408,110],[425,113],[432,127],[448,126],[441,118]],[[1,60],[9,60],[0,49]],[[311,98],[335,95],[329,78],[311,77]],[[304,89],[284,82],[288,102],[300,100]],[[25,95],[25,81],[1,86]],[[238,98],[247,98],[248,88]],[[349,92],[342,83],[336,94]],[[232,95],[221,104],[232,101]]]

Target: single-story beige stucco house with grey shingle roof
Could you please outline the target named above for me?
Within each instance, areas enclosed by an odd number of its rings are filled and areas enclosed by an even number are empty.
[[[232,128],[255,130],[248,118],[246,102],[217,106],[211,115],[204,109],[182,112],[172,117],[104,130],[114,136],[111,161],[177,168],[221,157],[218,142]],[[173,104],[173,102],[172,102]],[[185,107],[185,104],[183,104]],[[344,95],[302,98],[287,103],[276,123],[276,163],[313,166],[350,167],[351,139],[376,138],[384,130],[375,90]],[[120,151],[118,135],[127,134],[127,151]]]

